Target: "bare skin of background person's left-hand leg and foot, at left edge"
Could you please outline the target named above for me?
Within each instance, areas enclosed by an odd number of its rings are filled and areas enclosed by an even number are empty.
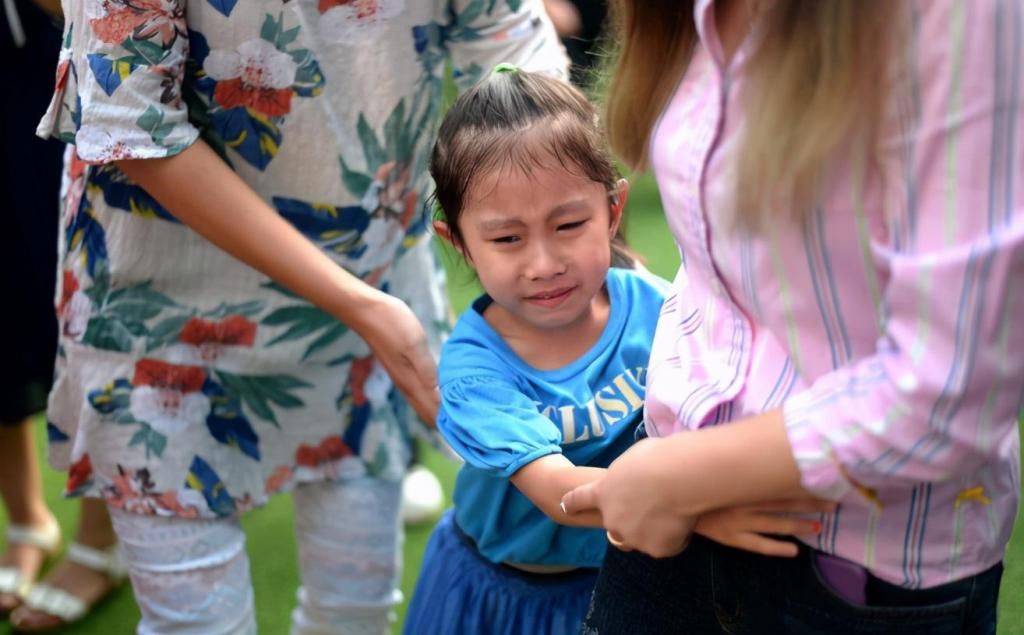
[[[50,522],[50,512],[43,500],[43,480],[28,419],[16,426],[0,426],[0,496],[11,524],[43,527]],[[0,566],[12,566],[34,579],[46,554],[31,545],[8,545],[0,557]],[[18,598],[0,593],[0,612],[18,604]]]

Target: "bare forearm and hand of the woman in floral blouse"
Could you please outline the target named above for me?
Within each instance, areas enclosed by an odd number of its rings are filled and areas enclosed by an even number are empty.
[[[331,260],[202,140],[173,157],[117,164],[181,222],[358,333],[417,414],[434,421],[434,361],[423,327],[403,302]]]

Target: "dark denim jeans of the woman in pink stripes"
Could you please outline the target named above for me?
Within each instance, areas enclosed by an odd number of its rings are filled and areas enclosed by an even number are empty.
[[[769,558],[694,536],[674,558],[608,548],[587,635],[678,633],[993,635],[1002,565],[908,591],[870,577],[867,605],[825,585],[813,551]]]

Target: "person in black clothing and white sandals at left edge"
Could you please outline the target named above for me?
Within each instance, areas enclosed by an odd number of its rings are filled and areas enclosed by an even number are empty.
[[[6,339],[0,359],[0,496],[8,519],[0,555],[0,616],[30,632],[84,616],[117,578],[103,573],[117,569],[114,551],[108,549],[116,541],[104,506],[93,501],[82,505],[68,557],[45,584],[36,583],[45,561],[60,548],[60,527],[43,498],[31,422],[46,407],[57,342],[53,237],[63,144],[37,138],[35,127],[52,91],[49,71],[60,48],[59,15],[56,0],[4,0],[0,11],[0,85],[7,95],[0,100],[0,298],[5,307],[0,330]],[[49,612],[47,607],[56,604],[59,615]]]

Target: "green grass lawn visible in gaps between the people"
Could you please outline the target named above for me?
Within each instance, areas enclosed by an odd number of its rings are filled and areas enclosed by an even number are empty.
[[[665,277],[672,276],[679,258],[662,218],[657,192],[649,179],[641,179],[630,197],[628,234],[634,247],[647,258],[647,265],[651,270]],[[472,276],[465,267],[456,267],[451,271],[450,283],[456,308],[462,310],[476,293]],[[38,437],[43,438],[42,420],[38,422],[37,428]],[[43,454],[41,447],[40,454]],[[451,495],[456,466],[432,452],[426,454],[425,462],[441,477]],[[44,478],[50,508],[60,520],[65,535],[71,536],[75,526],[76,505],[73,501],[60,499],[63,476],[47,469]],[[0,526],[5,522],[0,510]],[[269,635],[287,633],[289,613],[295,605],[294,594],[298,588],[290,500],[287,497],[276,497],[263,509],[246,515],[244,525],[249,537],[260,632]],[[1018,517],[1018,525],[1024,526],[1024,514]],[[420,560],[429,535],[429,526],[413,528],[407,534],[402,576],[402,590],[407,598],[412,593],[419,574]],[[1024,635],[1024,603],[1021,601],[1024,598],[1024,531],[1020,528],[1011,542],[1006,565],[999,601],[999,633]],[[398,609],[399,626],[403,611],[404,604]],[[134,632],[137,620],[138,610],[131,590],[125,586],[100,604],[85,621],[63,632],[78,635],[127,634]],[[399,630],[398,627],[395,628],[395,632]],[[0,622],[0,635],[9,633],[9,626]]]

